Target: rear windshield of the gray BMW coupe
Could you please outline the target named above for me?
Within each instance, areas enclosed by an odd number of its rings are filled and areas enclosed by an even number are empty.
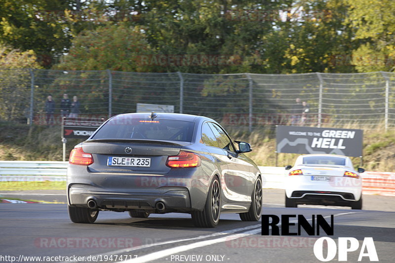
[[[192,141],[193,122],[175,120],[114,118],[91,139],[148,139]]]

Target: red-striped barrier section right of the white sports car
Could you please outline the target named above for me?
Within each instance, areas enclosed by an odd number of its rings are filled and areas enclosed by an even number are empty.
[[[362,193],[395,197],[395,173],[364,172],[362,177]]]

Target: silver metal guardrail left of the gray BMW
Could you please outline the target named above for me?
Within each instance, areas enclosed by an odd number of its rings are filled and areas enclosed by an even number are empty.
[[[0,181],[66,181],[68,162],[0,161]]]

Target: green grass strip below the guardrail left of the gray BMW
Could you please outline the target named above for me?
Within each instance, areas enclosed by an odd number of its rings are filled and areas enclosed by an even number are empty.
[[[65,190],[66,182],[0,182],[2,191]]]

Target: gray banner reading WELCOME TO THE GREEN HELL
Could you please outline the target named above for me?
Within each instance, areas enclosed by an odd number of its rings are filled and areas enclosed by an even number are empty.
[[[362,156],[362,130],[277,126],[277,153]]]

